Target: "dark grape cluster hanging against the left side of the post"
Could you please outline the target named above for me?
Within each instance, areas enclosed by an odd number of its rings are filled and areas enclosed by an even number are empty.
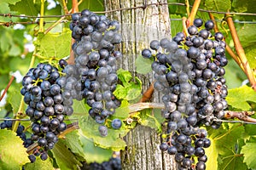
[[[122,57],[114,49],[122,40],[118,33],[119,22],[84,9],[72,14],[70,29],[76,40],[73,43],[75,65],[67,65],[64,72],[76,78],[79,99],[85,99],[90,106],[90,116],[97,123],[104,124],[120,105],[113,95],[118,82],[116,63]],[[119,119],[112,122],[115,129],[121,125]],[[99,132],[103,137],[107,136],[108,128],[101,125]]]

